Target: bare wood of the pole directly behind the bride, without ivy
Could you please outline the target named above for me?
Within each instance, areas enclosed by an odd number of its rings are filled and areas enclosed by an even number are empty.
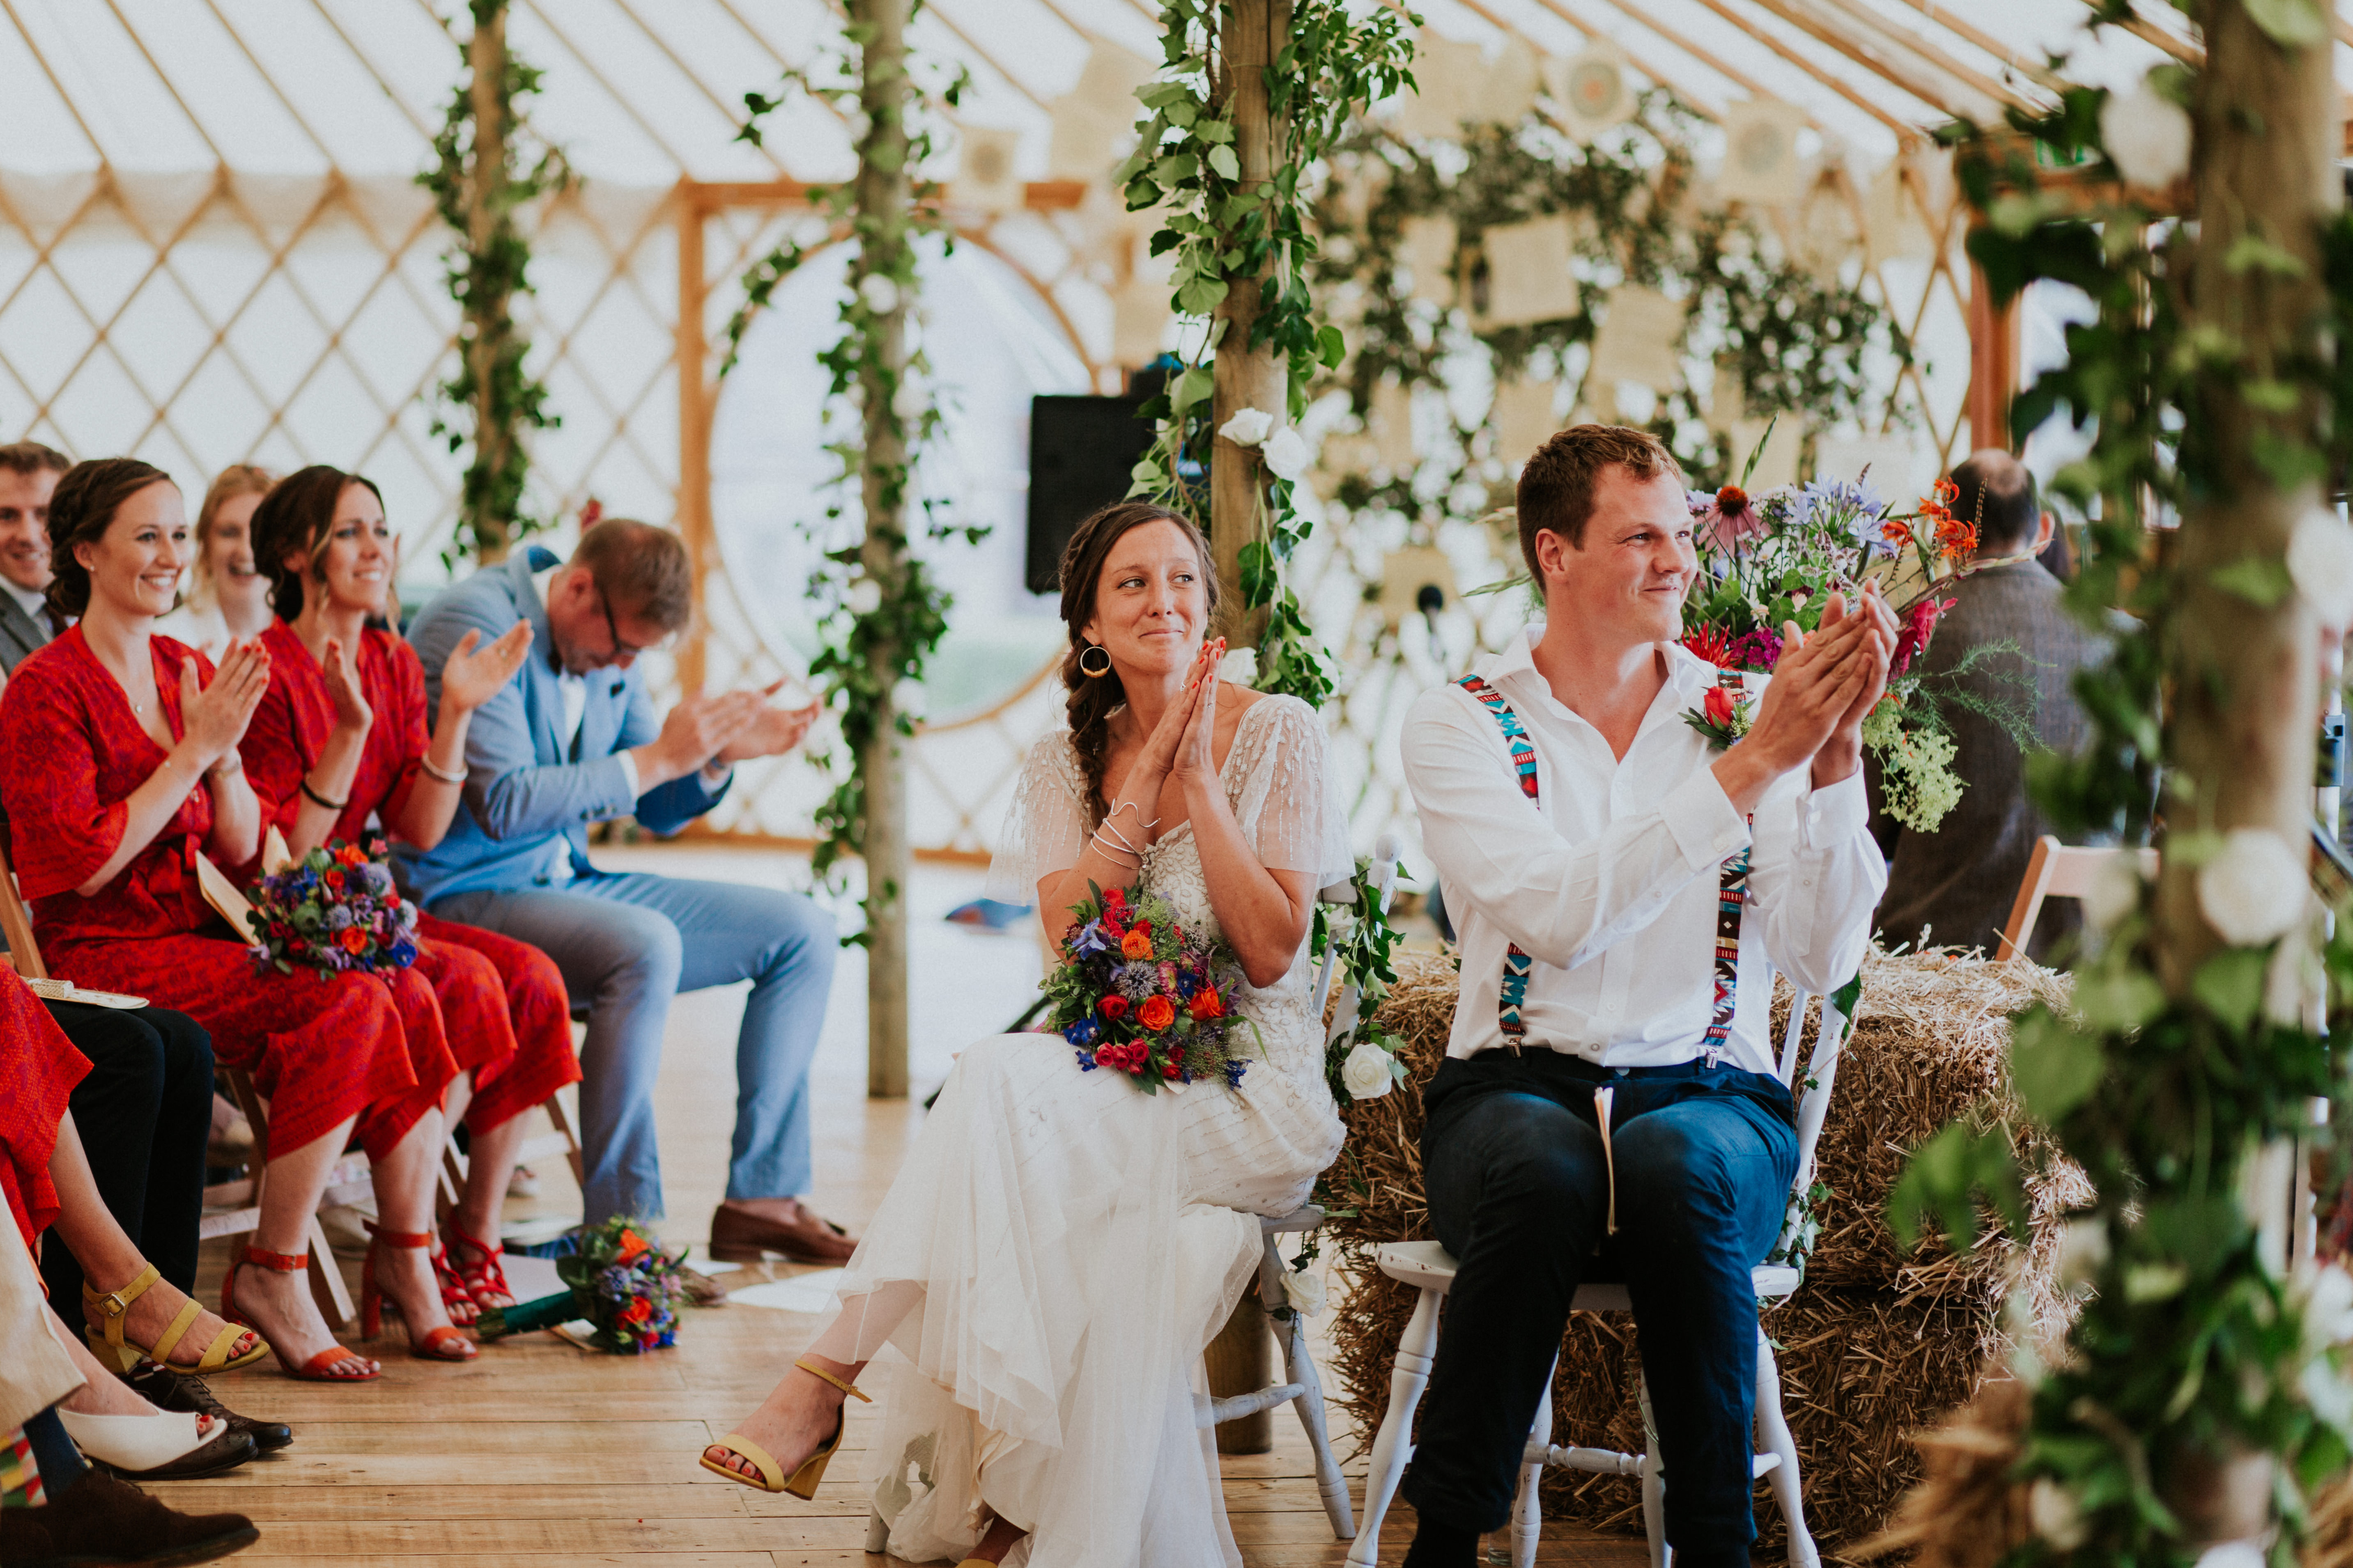
[[[1273,63],[1292,31],[1289,0],[1231,0],[1217,45],[1217,113],[1233,122],[1233,153],[1242,165],[1242,188],[1264,188],[1278,162],[1275,127],[1266,108],[1266,66]],[[1259,320],[1259,296],[1266,280],[1226,280],[1226,301],[1217,308],[1224,336],[1217,343],[1217,393],[1212,423],[1224,428],[1240,409],[1264,409],[1275,425],[1287,423],[1287,381],[1273,348],[1249,348],[1249,327]],[[1238,649],[1259,646],[1266,611],[1242,611],[1242,545],[1259,536],[1259,458],[1214,437],[1209,451],[1209,548],[1217,552],[1217,581],[1224,588],[1219,630]]]

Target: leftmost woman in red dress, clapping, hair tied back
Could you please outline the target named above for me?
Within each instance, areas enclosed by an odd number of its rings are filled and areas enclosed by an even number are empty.
[[[224,1316],[259,1328],[299,1378],[379,1373],[334,1342],[304,1279],[311,1215],[358,1133],[381,1220],[362,1293],[393,1300],[412,1354],[471,1359],[426,1258],[438,1107],[456,1072],[447,1046],[402,1030],[379,976],[254,973],[198,891],[200,853],[242,865],[261,839],[238,741],[268,689],[268,654],[231,644],[214,672],[151,635],[188,564],[181,496],[160,468],[75,465],[49,501],[49,604],[82,621],[0,696],[16,877],[56,973],[191,1013],[271,1100],[261,1225],[231,1265]]]

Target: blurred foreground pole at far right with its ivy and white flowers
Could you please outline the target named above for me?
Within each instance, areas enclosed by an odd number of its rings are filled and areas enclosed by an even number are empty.
[[[2092,743],[2031,785],[2061,832],[2162,844],[2155,882],[2125,856],[2087,900],[2068,1009],[2014,1025],[2019,1103],[2099,1190],[2068,1234],[2092,1298],[2061,1361],[2017,1352],[2033,1399],[2009,1481],[2033,1537],[2014,1563],[2186,1563],[2273,1528],[2289,1563],[2353,1455],[2353,1276],[2289,1265],[2299,1135],[2353,1058],[2353,903],[2308,872],[2318,670],[2353,621],[2353,529],[2322,491],[2353,461],[2353,221],[2327,12],[2184,9],[2200,71],[1948,134],[1995,296],[2047,277],[2097,306],[2012,428],[2064,411],[2092,433],[2054,480],[2092,510],[2068,595],[2132,621],[2075,677]],[[2125,0],[2099,12],[2132,21]],[[2174,543],[2153,512],[2179,515]],[[1969,1239],[1981,1199],[2021,1222],[2009,1133],[1953,1126],[1889,1218]]]

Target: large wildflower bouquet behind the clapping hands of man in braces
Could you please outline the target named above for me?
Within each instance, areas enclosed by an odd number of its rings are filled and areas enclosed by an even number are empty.
[[[1762,442],[1758,442],[1762,451]],[[1748,461],[1755,473],[1755,456]],[[1744,484],[1746,484],[1744,475]],[[1937,618],[1955,599],[1937,590],[1972,569],[1977,524],[1953,515],[1955,487],[1939,480],[1918,510],[1897,512],[1857,480],[1814,480],[1751,496],[1741,484],[1715,494],[1692,491],[1699,534],[1699,583],[1682,607],[1682,646],[1718,670],[1772,670],[1781,658],[1781,628],[1800,632],[1821,625],[1831,592],[1852,602],[1864,583],[1878,583],[1899,632],[1887,672],[1887,696],[1864,719],[1864,750],[1880,764],[1887,813],[1918,832],[1934,832],[1960,802],[1953,773],[1953,736],[1944,705],[1979,712],[2009,731],[2021,748],[2033,745],[2021,701],[1988,703],[1958,684],[2014,642],[1969,649],[1948,675],[1915,670],[1937,632]],[[2024,672],[2005,679],[2026,682]],[[1739,686],[1708,689],[1706,703],[1682,715],[1685,724],[1725,748],[1748,733],[1755,698]]]

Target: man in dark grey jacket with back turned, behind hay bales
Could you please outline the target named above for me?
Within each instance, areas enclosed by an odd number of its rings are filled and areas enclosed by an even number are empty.
[[[1960,494],[1953,515],[1977,524],[1977,559],[1969,576],[1939,590],[1953,609],[1937,621],[1922,670],[1984,703],[2007,703],[2031,715],[2035,738],[2052,750],[2075,750],[2089,736],[2089,719],[2075,701],[2075,672],[2106,658],[2097,632],[2085,630],[2059,602],[2059,578],[2035,559],[2052,541],[2052,515],[2035,505],[2035,477],[2000,449],[1969,454],[1953,470]],[[1972,649],[2009,642],[2017,654],[1981,658],[1965,675],[1951,675]],[[1993,719],[1960,703],[1946,705],[1953,724],[1953,773],[1967,785],[1960,804],[1937,825],[1915,832],[1880,818],[1880,846],[1892,842],[1887,898],[1878,931],[1887,945],[1927,940],[1953,947],[1993,950],[2002,922],[2026,879],[2035,839],[2052,830],[2026,797],[2026,757]],[[2042,905],[2031,957],[2082,922],[2073,898]]]

